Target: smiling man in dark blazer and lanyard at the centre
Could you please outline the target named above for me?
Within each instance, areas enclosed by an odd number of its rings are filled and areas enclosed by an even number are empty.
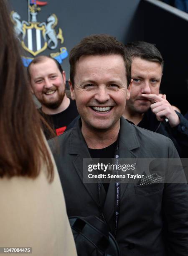
[[[71,50],[69,61],[71,96],[81,118],[56,138],[58,143],[49,141],[68,215],[105,220],[122,256],[187,256],[188,186],[175,183],[177,178],[185,182],[181,168],[170,176],[162,164],[151,173],[157,179],[149,182],[149,176],[135,184],[83,182],[84,158],[179,157],[169,138],[122,118],[132,84],[123,44],[112,36],[88,36]]]

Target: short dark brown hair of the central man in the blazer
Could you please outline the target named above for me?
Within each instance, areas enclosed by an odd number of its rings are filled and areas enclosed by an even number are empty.
[[[74,76],[75,76],[75,67],[76,62],[80,59],[81,56],[89,55],[113,55],[117,54],[122,56],[126,69],[127,76],[127,87],[131,82],[131,64],[129,56],[126,54],[124,45],[117,41],[113,36],[106,34],[91,35],[87,36],[80,41],[70,52],[69,63],[70,63],[70,80],[74,86]]]

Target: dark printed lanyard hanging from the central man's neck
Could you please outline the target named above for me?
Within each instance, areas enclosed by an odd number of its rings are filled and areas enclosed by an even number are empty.
[[[117,164],[117,165],[118,165],[118,159],[119,159],[119,143],[117,141],[117,146],[116,146],[116,150],[115,150],[115,161],[116,161],[115,164]],[[116,171],[116,174],[118,174],[118,170]],[[99,207],[101,210],[102,218],[103,218],[104,222],[107,223],[104,218],[104,213],[103,213],[103,209],[102,209],[101,202],[100,202],[101,186],[102,186],[102,184],[99,183],[98,184]],[[118,220],[119,220],[119,214],[120,214],[120,212],[119,212],[119,210],[120,210],[120,195],[121,195],[120,189],[121,189],[120,183],[116,182],[115,183],[115,206],[114,206],[114,237],[116,237],[116,235],[117,235]]]

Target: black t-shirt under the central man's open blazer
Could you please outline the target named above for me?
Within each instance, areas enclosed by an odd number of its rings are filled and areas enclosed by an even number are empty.
[[[99,158],[99,163],[113,164],[111,159],[114,158],[116,145],[117,145],[117,141],[115,141],[113,144],[109,145],[106,148],[101,148],[101,149],[88,148],[89,154],[91,158]],[[103,186],[107,192],[109,183],[103,183]]]

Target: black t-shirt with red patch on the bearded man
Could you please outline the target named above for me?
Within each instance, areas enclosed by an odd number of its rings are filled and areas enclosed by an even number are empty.
[[[46,122],[51,126],[51,128],[53,128],[57,136],[64,133],[67,125],[69,125],[69,123],[71,123],[72,120],[74,120],[74,118],[76,118],[79,115],[78,110],[76,108],[76,102],[75,100],[71,99],[69,107],[58,114],[46,115],[45,113],[43,113],[42,108],[40,108],[38,111],[46,120]],[[51,134],[44,125],[43,131],[47,140],[51,138]]]

